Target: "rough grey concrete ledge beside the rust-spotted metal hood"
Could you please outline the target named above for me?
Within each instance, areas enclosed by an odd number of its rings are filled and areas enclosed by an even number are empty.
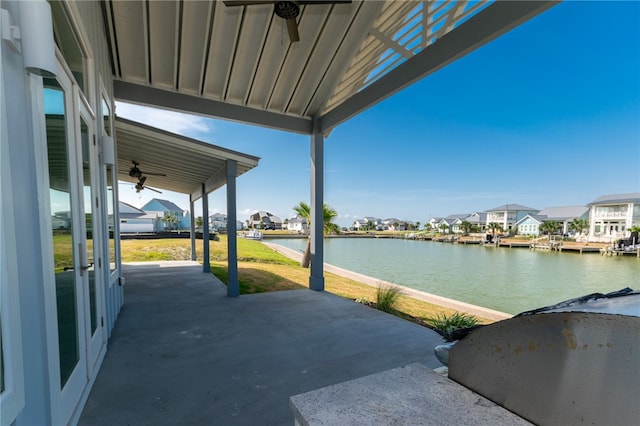
[[[290,398],[296,425],[530,425],[423,364]]]

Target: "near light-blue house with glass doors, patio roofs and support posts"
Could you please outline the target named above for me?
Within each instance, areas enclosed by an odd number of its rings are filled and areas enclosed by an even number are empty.
[[[321,291],[326,135],[554,4],[309,5],[298,10],[293,44],[269,5],[2,0],[2,425],[78,422],[124,305],[117,182],[139,183],[132,161],[166,174],[154,187],[189,196],[192,230],[194,203],[208,218],[208,194],[225,187],[235,235],[236,181],[259,158],[117,117],[116,100],[308,137],[309,287]],[[422,31],[403,41],[416,24]],[[381,66],[387,52],[401,60]],[[71,233],[54,229],[64,211]],[[226,291],[235,297],[236,241],[228,241]],[[209,272],[208,244],[203,259]]]

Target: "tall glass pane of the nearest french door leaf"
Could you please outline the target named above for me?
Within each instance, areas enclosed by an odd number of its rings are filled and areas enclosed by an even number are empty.
[[[74,249],[73,209],[65,91],[56,79],[44,79],[44,108],[49,162],[49,200],[53,235],[60,386],[63,388],[80,362],[77,263]],[[72,132],[73,130],[71,130]]]

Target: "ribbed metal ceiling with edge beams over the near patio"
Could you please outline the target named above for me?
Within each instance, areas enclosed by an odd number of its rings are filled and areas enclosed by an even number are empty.
[[[297,43],[272,4],[102,4],[117,99],[310,134],[329,132],[556,3],[307,5]]]

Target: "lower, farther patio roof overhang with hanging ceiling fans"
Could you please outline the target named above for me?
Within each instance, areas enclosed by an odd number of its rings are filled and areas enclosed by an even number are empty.
[[[189,194],[192,200],[202,197],[203,190],[208,194],[227,183],[229,160],[237,163],[236,177],[256,167],[260,160],[121,117],[116,117],[115,128],[120,167],[118,180],[138,182],[137,178],[129,176],[131,162],[135,160],[147,176],[146,185]]]

